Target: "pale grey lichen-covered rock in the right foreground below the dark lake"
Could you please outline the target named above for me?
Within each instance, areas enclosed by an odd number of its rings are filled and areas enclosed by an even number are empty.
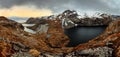
[[[66,57],[112,57],[113,49],[108,47],[97,47],[78,50],[66,55]]]

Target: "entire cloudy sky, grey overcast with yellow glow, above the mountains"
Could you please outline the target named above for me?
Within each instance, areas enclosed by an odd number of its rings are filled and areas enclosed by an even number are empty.
[[[79,13],[120,14],[120,0],[0,0],[0,15],[39,17],[58,14],[66,9]]]

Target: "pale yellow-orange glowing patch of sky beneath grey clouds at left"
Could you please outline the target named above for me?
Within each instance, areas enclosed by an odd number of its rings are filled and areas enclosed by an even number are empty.
[[[37,9],[35,7],[29,8],[27,6],[14,6],[10,9],[0,9],[2,16],[17,16],[17,17],[41,17],[52,15],[50,9]]]

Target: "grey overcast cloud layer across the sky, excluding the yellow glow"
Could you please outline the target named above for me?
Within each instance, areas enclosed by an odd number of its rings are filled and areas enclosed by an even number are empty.
[[[60,13],[66,9],[78,11],[99,11],[119,14],[118,0],[0,0],[1,8],[14,6],[35,6],[37,9],[50,9],[53,13]],[[30,7],[31,8],[31,7]]]

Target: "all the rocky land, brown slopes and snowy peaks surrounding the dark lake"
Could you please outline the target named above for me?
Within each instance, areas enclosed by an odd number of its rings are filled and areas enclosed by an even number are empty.
[[[22,24],[0,16],[0,57],[120,57],[119,18],[105,14],[99,18],[77,16],[75,11],[66,10],[54,19],[30,18],[26,23],[36,24],[28,27],[36,34],[26,32]],[[86,43],[66,46],[70,41],[64,29],[98,25],[108,27]]]

